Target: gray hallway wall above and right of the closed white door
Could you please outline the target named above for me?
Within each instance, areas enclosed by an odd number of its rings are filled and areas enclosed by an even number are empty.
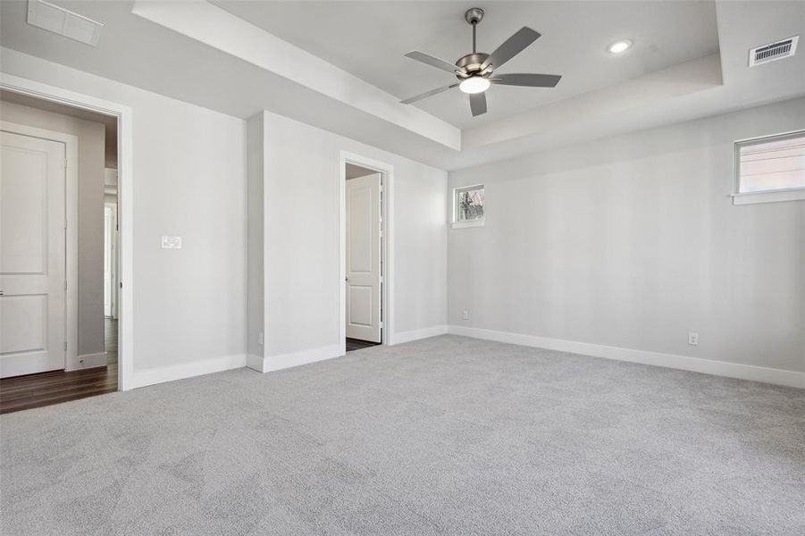
[[[8,102],[0,104],[0,119],[79,138],[78,355],[103,353],[105,127]]]

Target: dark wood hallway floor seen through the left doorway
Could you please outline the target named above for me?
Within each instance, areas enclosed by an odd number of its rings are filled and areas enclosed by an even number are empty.
[[[0,414],[94,397],[117,390],[117,321],[105,320],[106,366],[0,380]]]

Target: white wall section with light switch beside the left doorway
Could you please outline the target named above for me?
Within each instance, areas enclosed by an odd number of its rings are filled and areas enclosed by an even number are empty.
[[[6,73],[133,110],[135,383],[242,366],[245,121],[13,50],[0,59]],[[182,248],[161,249],[162,235]]]

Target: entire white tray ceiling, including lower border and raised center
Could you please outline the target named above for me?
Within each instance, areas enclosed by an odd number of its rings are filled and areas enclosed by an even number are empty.
[[[482,49],[524,25],[543,34],[501,71],[565,80],[492,88],[490,113],[475,119],[460,93],[398,104],[449,82],[402,54],[465,53],[473,4],[50,1],[104,22],[98,46],[31,27],[25,2],[2,0],[4,71],[22,76],[29,54],[238,117],[280,113],[447,170],[805,95],[805,49],[746,65],[752,46],[805,37],[800,0],[484,2]],[[623,37],[632,50],[605,52]]]

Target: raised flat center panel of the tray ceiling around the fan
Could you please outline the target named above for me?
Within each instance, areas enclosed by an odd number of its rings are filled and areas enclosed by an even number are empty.
[[[718,51],[714,2],[254,2],[214,4],[398,98],[455,77],[404,57],[422,50],[449,62],[472,51],[467,7],[483,7],[478,50],[491,53],[517,29],[542,37],[500,72],[561,74],[557,88],[496,87],[489,112],[472,117],[457,88],[416,103],[461,129],[631,80]],[[608,44],[631,38],[621,55]]]

